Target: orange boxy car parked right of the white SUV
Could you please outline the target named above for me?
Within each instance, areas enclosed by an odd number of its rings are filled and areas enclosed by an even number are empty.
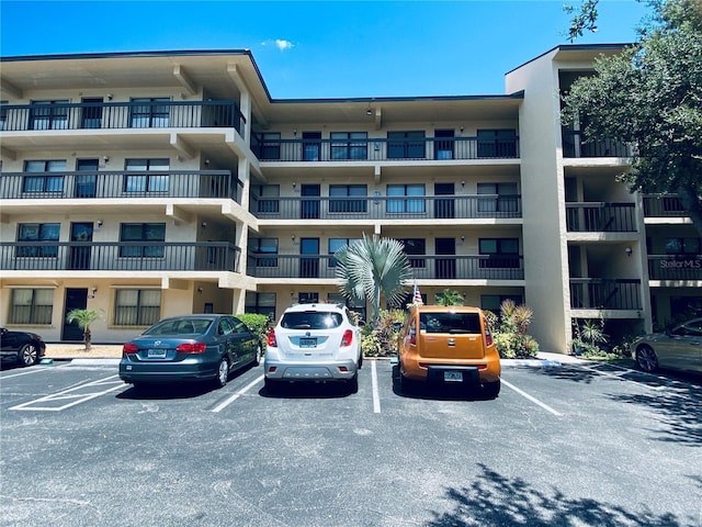
[[[412,305],[398,343],[400,388],[421,381],[500,392],[500,357],[478,307]]]

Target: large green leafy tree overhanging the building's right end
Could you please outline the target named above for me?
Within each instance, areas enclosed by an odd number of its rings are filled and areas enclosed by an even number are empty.
[[[584,2],[592,16],[574,19],[571,36],[595,26],[597,3]],[[702,2],[649,3],[654,19],[638,42],[596,60],[596,74],[565,94],[562,117],[585,123],[586,141],[634,145],[620,179],[631,191],[676,194],[702,236]]]

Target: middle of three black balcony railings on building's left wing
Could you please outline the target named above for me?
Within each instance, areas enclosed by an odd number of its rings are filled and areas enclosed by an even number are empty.
[[[227,198],[244,183],[229,170],[2,172],[0,199]]]

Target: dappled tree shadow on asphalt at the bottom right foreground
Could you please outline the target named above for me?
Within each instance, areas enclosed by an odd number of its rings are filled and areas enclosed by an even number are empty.
[[[647,508],[586,497],[568,497],[557,489],[543,492],[520,478],[508,478],[479,464],[482,473],[469,486],[450,487],[444,496],[453,511],[431,512],[426,527],[529,526],[570,527],[682,527],[697,525],[693,518],[656,514]],[[684,523],[683,523],[684,522]]]

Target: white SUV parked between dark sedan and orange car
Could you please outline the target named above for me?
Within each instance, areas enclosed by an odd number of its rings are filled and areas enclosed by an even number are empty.
[[[268,336],[265,388],[282,382],[342,381],[359,389],[361,332],[343,304],[296,304]]]

